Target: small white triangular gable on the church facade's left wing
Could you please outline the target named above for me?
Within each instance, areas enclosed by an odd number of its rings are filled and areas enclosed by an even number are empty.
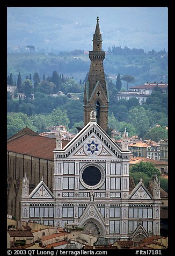
[[[29,195],[30,198],[35,199],[54,199],[54,195],[49,190],[49,188],[46,186],[46,184],[43,181],[40,181],[37,187],[32,191],[32,193]]]

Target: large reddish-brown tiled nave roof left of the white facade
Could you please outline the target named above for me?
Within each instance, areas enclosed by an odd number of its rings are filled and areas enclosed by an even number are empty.
[[[69,141],[63,140],[63,147]],[[47,138],[42,136],[31,136],[30,134],[25,134],[16,139],[10,140],[7,143],[7,150],[31,155],[32,157],[54,160],[54,149],[56,146],[55,138]]]

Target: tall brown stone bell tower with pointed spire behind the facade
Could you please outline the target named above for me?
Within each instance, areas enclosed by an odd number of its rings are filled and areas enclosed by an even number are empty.
[[[84,90],[84,126],[90,122],[90,113],[96,110],[97,123],[108,131],[108,88],[105,81],[103,61],[105,52],[102,51],[99,17],[93,34],[93,51],[89,52],[91,60],[88,81]]]

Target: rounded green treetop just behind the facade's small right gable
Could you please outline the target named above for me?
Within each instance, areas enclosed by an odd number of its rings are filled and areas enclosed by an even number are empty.
[[[151,162],[138,162],[132,167],[130,167],[130,173],[143,173],[148,177],[152,177],[152,175],[157,174],[157,176],[161,176],[159,170],[154,166]]]

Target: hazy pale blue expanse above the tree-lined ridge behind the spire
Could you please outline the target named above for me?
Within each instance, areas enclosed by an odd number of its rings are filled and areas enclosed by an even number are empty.
[[[167,51],[166,7],[9,7],[7,11],[8,46],[91,51],[99,16],[104,51],[112,45]]]

